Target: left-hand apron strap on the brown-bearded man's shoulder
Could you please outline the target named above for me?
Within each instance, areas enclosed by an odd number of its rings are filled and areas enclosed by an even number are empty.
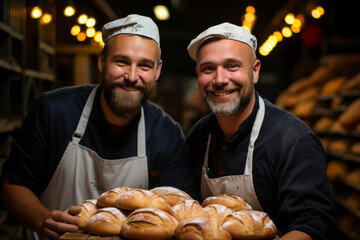
[[[99,88],[99,85],[97,85],[96,87],[94,87],[94,89],[91,91],[85,107],[81,113],[81,117],[79,120],[79,123],[77,125],[77,128],[75,130],[75,132],[73,133],[73,137],[72,137],[72,142],[74,143],[79,143],[80,140],[82,139],[82,137],[84,136],[85,133],[85,129],[89,120],[89,116],[91,113],[91,109],[94,103],[94,99],[95,99],[95,94],[96,94],[96,90]]]

